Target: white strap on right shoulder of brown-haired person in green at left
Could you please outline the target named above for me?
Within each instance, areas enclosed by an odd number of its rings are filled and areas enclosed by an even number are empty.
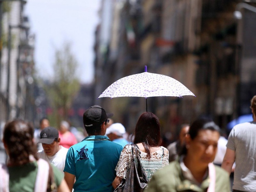
[[[38,171],[36,174],[36,183],[34,192],[42,192],[47,190],[48,176],[49,176],[49,163],[44,159],[37,161]]]

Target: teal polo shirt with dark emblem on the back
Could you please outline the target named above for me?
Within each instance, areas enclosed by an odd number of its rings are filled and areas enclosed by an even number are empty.
[[[112,192],[116,165],[123,147],[95,135],[84,138],[68,149],[64,172],[76,176],[74,191]]]

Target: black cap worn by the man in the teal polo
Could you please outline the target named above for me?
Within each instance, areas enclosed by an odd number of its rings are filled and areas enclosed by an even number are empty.
[[[91,127],[93,125],[101,124],[113,115],[113,113],[106,113],[105,109],[103,109],[99,105],[94,105],[86,109],[86,111],[84,112],[84,126]]]

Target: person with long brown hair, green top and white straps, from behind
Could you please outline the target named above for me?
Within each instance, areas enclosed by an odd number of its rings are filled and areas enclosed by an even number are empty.
[[[14,120],[5,125],[3,142],[9,160],[8,169],[5,171],[4,166],[0,164],[0,178],[4,175],[8,177],[1,178],[0,191],[46,192],[52,191],[51,187],[55,186],[55,183],[58,191],[68,192],[63,173],[45,160],[37,158],[33,136],[33,127],[25,121]],[[49,182],[51,176],[54,181]]]

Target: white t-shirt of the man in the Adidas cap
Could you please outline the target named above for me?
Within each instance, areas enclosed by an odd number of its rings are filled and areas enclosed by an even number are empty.
[[[60,147],[61,147],[60,150],[57,153],[55,153],[55,155],[53,156],[47,156],[44,153],[44,151],[38,151],[37,156],[38,158],[44,159],[49,163],[53,164],[58,169],[60,169],[60,171],[63,171],[65,167],[65,161],[66,161],[68,149],[65,147],[62,147],[61,145]]]

